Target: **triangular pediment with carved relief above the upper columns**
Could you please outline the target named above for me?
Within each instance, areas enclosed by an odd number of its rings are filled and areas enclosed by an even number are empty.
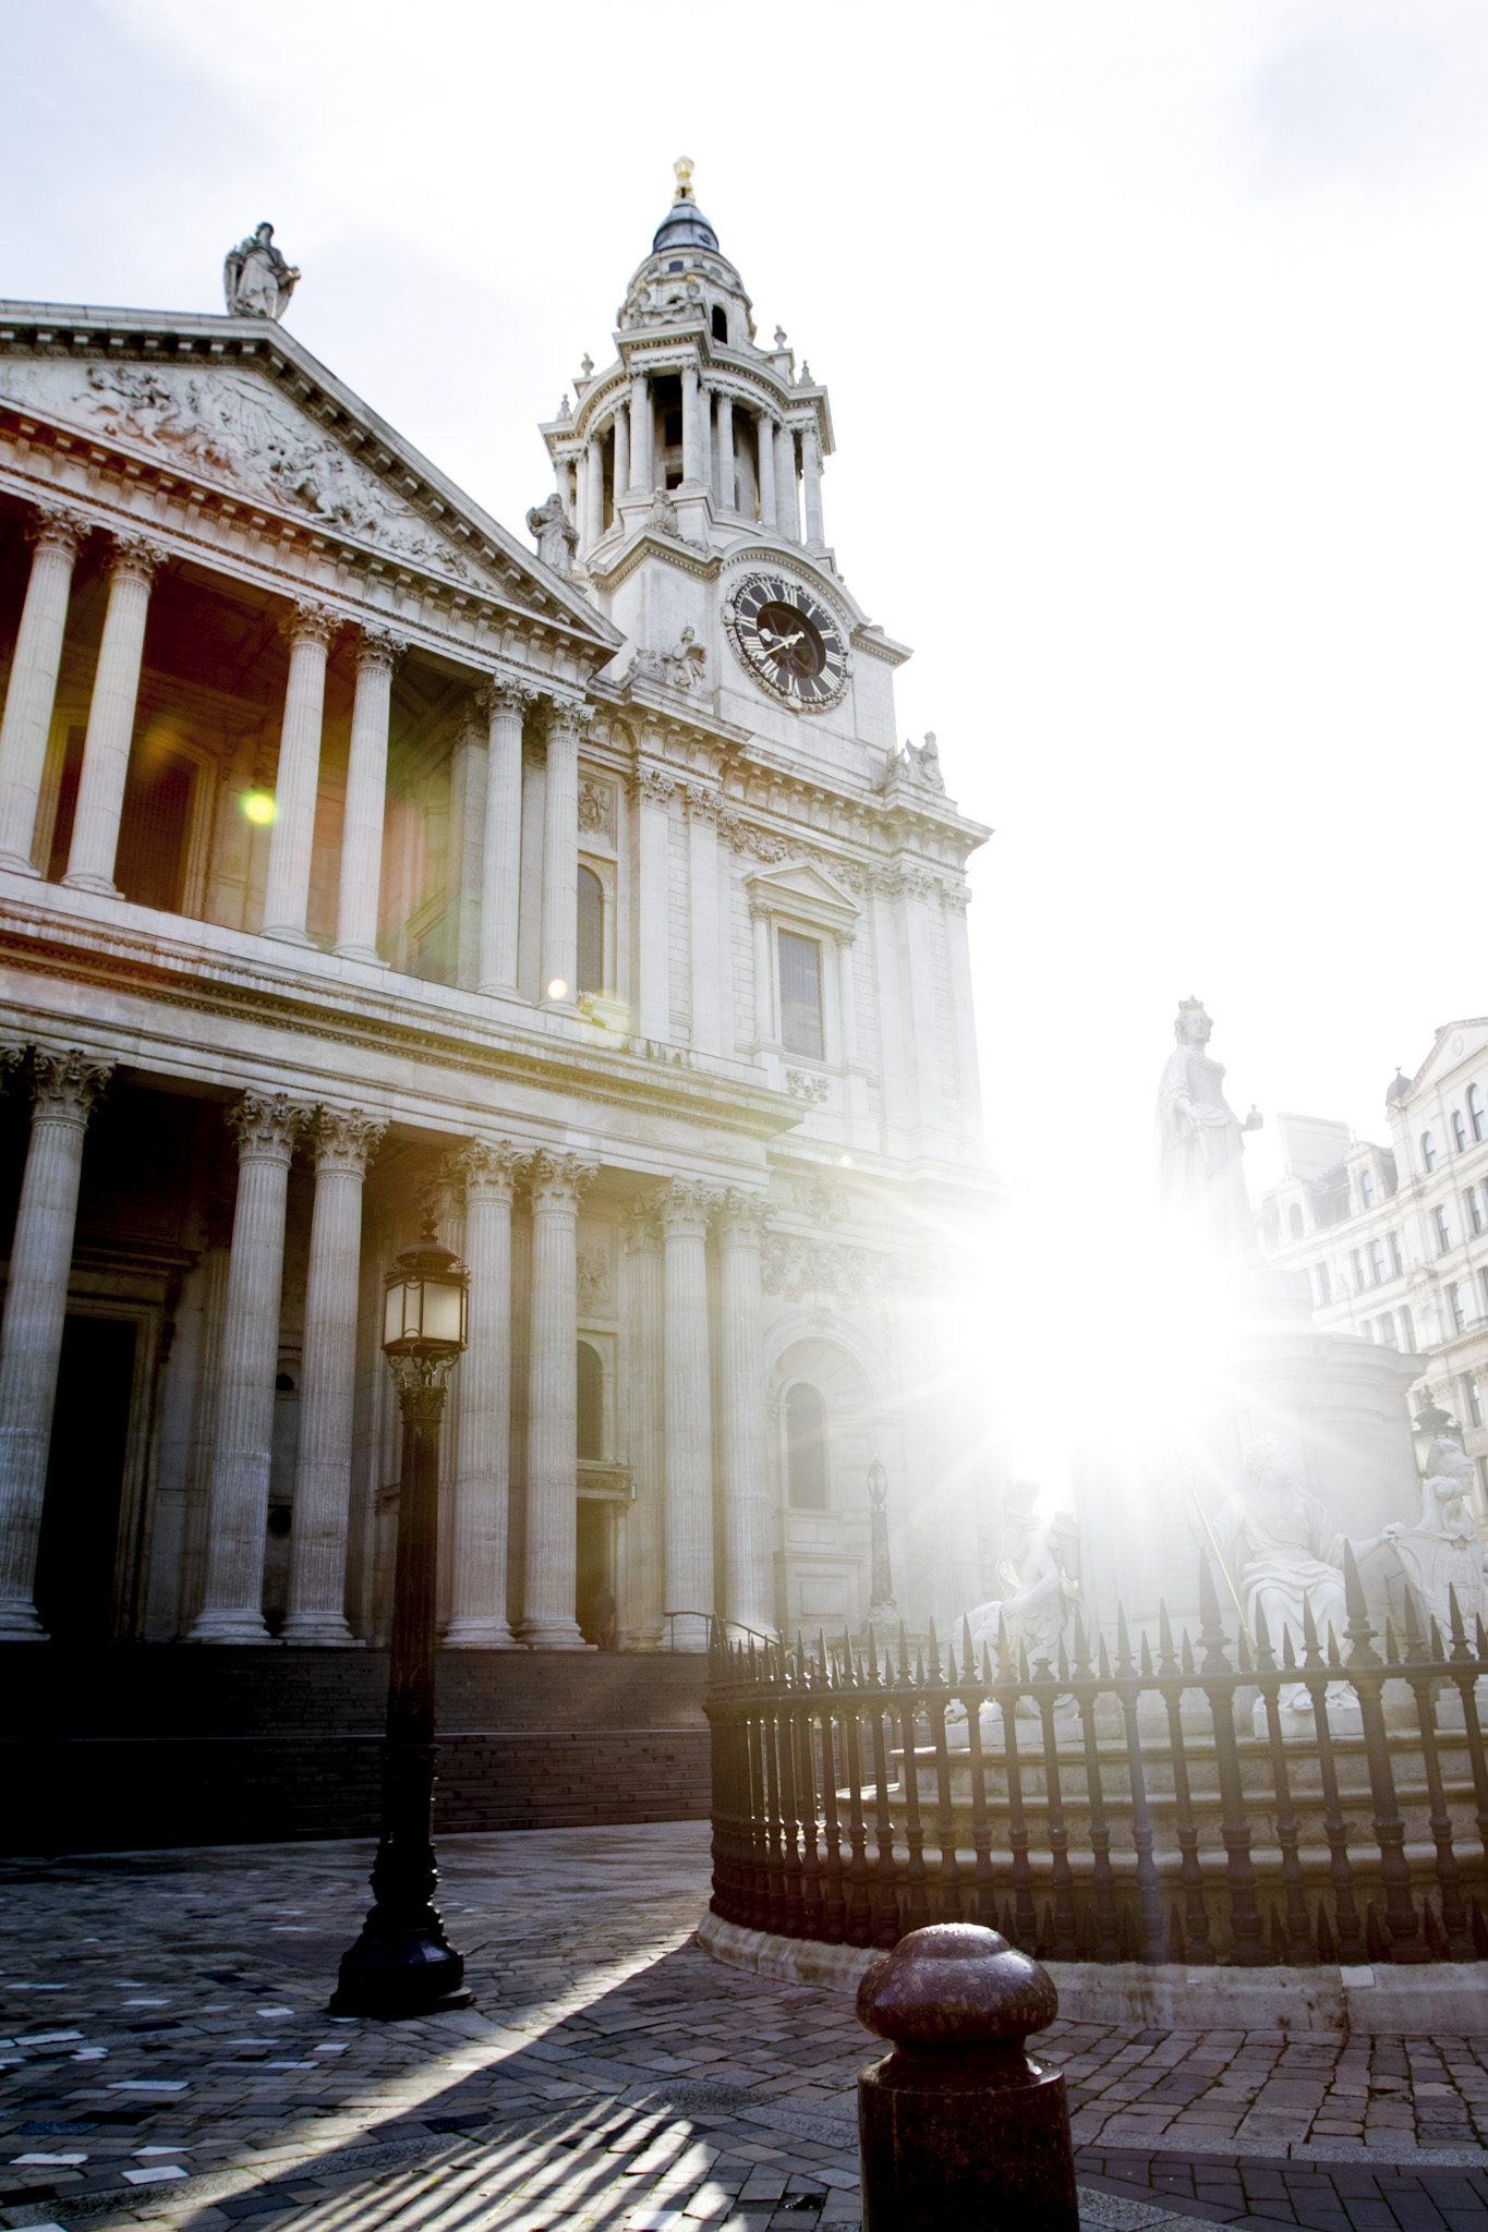
[[[31,446],[27,426],[51,431],[58,493],[65,462],[125,489],[149,464],[368,580],[422,578],[453,609],[515,607],[562,638],[576,681],[620,643],[571,580],[270,319],[0,301],[0,484],[16,487],[4,466],[16,437]]]

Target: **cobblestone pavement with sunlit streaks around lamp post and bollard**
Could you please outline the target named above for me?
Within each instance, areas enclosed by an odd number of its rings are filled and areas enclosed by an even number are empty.
[[[475,2009],[330,2020],[366,1844],[0,1861],[0,2223],[848,2232],[850,2000],[689,1935],[707,1824],[442,1844]],[[1486,1980],[1488,1982],[1488,1980]],[[1488,2232],[1488,2036],[1055,2024],[1082,2221]]]

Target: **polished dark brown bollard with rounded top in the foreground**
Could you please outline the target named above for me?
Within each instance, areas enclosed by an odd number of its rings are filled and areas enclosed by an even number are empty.
[[[895,2051],[857,2080],[863,2232],[1080,2232],[1064,2078],[1024,2053],[1057,2011],[1046,1971],[975,1922],[868,1969],[857,2020]]]

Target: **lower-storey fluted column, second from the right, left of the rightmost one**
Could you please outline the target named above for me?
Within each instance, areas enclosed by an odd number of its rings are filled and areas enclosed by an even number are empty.
[[[665,1241],[667,1603],[714,1609],[714,1417],[707,1373],[707,1219],[716,1196],[674,1178],[656,1205]],[[707,1623],[667,1623],[678,1652],[707,1649]]]

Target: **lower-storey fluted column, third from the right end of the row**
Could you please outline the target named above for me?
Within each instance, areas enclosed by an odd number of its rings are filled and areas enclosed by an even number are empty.
[[[578,1203],[596,1174],[576,1154],[531,1161],[533,1281],[526,1393],[522,1643],[578,1652]]]

